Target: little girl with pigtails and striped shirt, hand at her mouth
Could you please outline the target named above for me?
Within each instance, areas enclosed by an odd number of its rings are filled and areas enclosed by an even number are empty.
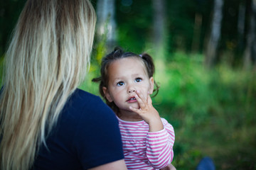
[[[100,94],[117,115],[128,169],[163,169],[174,157],[174,128],[152,106],[158,86],[150,55],[116,47],[102,59]],[[157,94],[157,93],[156,93]]]

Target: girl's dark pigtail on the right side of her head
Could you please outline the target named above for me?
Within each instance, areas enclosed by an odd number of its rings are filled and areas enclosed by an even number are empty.
[[[142,53],[142,55],[139,55],[139,56],[142,57],[142,60],[144,61],[144,64],[146,65],[146,71],[148,72],[149,77],[153,77],[154,72],[155,72],[153,58],[147,53]],[[154,94],[154,96],[156,96],[159,93],[160,86],[159,86],[159,84],[156,83],[155,80],[154,80],[154,86],[156,86],[156,88],[154,89],[154,91],[156,91],[156,94]],[[154,97],[154,96],[152,96],[152,97]]]

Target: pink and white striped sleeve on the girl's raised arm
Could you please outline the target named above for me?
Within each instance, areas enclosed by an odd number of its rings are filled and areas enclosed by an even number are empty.
[[[174,128],[165,119],[162,119],[164,129],[158,132],[149,132],[146,140],[146,157],[151,166],[161,169],[170,164],[174,158]]]

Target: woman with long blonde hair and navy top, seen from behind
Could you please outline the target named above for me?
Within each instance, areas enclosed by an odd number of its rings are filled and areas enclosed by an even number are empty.
[[[95,21],[89,0],[26,2],[5,57],[1,169],[127,169],[114,113],[77,89]]]

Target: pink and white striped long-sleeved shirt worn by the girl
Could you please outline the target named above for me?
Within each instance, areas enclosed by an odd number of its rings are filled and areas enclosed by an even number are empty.
[[[127,169],[161,169],[174,158],[174,128],[161,118],[164,129],[149,132],[144,121],[127,122],[119,120]]]

